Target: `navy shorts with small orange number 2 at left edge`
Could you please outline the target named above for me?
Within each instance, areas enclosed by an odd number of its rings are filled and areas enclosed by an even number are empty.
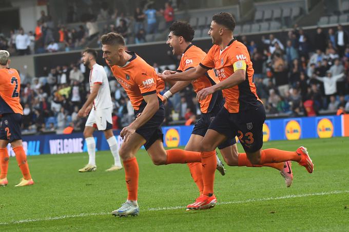
[[[0,139],[13,142],[22,140],[22,114],[3,114],[1,118]]]

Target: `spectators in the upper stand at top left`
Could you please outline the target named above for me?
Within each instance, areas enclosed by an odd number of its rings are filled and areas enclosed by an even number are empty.
[[[133,15],[125,15],[118,9],[111,12],[106,2],[99,3],[98,12],[94,12],[91,6],[80,17],[75,8],[74,5],[69,7],[66,21],[68,24],[81,25],[54,25],[51,15],[41,11],[41,17],[33,31],[26,33],[23,28],[19,28],[11,30],[8,35],[1,34],[0,48],[17,55],[79,50],[89,46],[94,38],[106,32],[117,32],[126,41],[132,36],[132,43],[140,44],[146,42],[146,34],[158,32],[159,17],[165,20],[166,28],[175,18],[170,2],[165,3],[164,8],[159,10],[154,8],[152,2],[143,4],[142,7],[134,9]],[[103,28],[99,22],[103,22]]]

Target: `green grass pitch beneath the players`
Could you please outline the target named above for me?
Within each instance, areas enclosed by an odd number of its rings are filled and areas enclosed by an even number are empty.
[[[127,218],[110,215],[127,197],[124,171],[104,171],[112,164],[110,152],[97,153],[98,170],[92,173],[77,172],[88,161],[86,154],[30,156],[35,184],[25,187],[14,187],[21,174],[12,157],[9,185],[0,188],[0,230],[347,231],[349,138],[271,141],[263,148],[295,151],[300,145],[315,163],[313,174],[293,162],[294,182],[286,188],[274,168],[226,166],[225,176],[216,172],[221,204],[190,212],[185,206],[198,191],[187,165],[155,166],[142,150],[137,155],[141,212]]]

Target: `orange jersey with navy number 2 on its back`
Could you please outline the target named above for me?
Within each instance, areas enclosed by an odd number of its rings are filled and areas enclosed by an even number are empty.
[[[20,103],[21,78],[15,69],[0,69],[0,115],[22,114]]]

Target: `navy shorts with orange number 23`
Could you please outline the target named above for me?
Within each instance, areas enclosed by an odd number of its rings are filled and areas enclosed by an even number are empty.
[[[208,129],[215,130],[227,138],[238,136],[245,152],[257,152],[263,145],[264,120],[265,110],[262,103],[239,113],[229,113],[223,107]]]

